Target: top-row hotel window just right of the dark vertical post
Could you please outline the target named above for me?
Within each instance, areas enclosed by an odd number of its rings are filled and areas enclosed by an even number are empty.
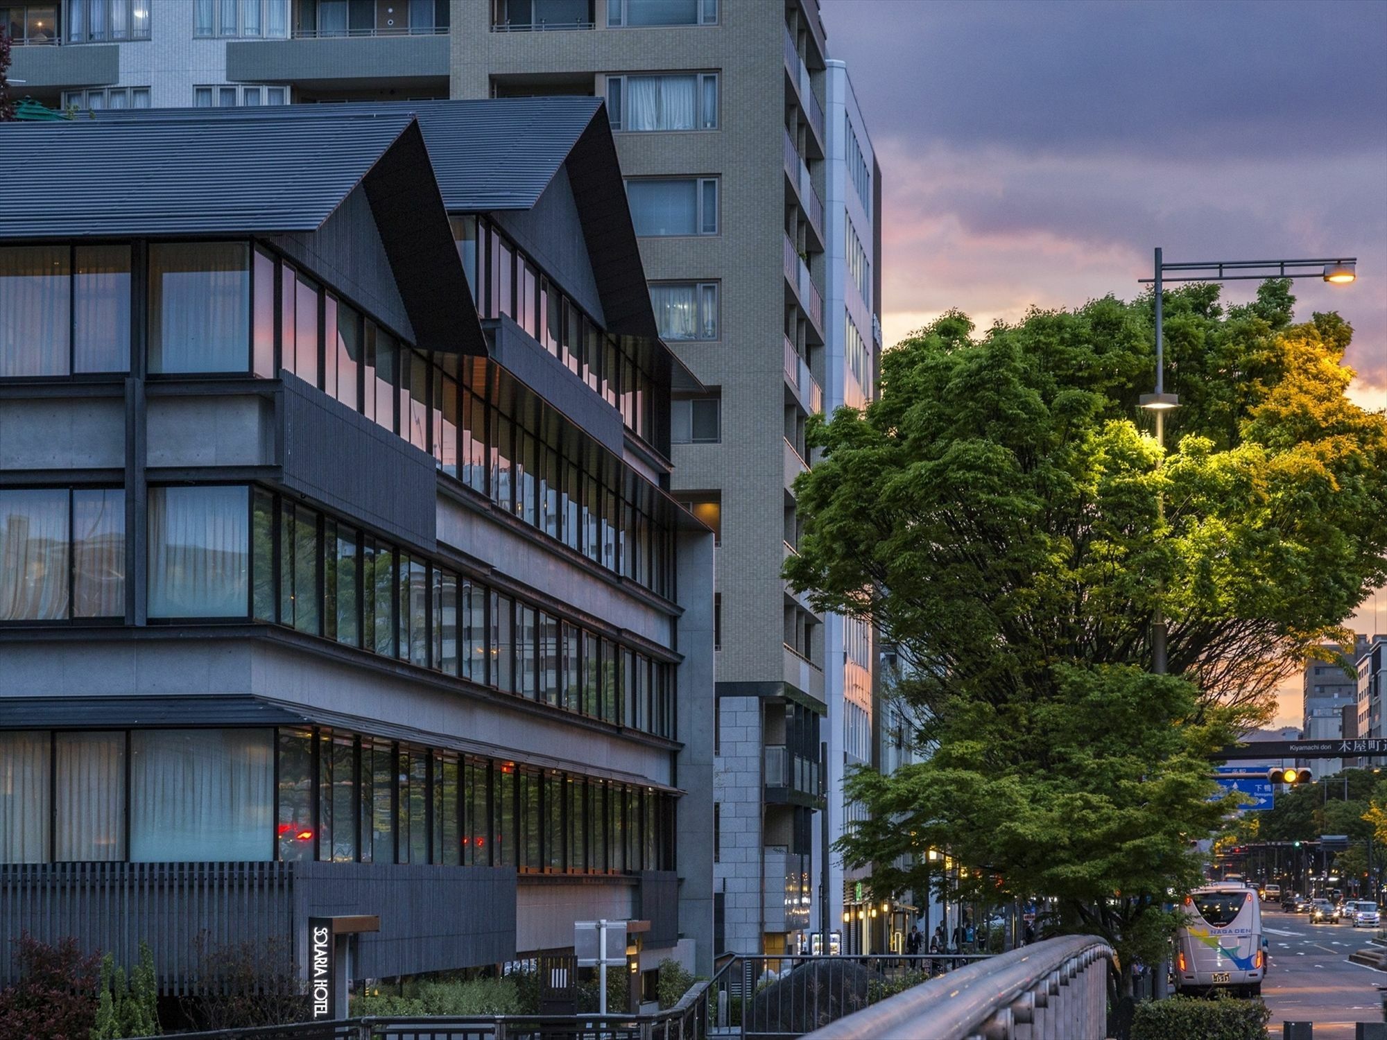
[[[247,243],[150,245],[150,372],[247,372]]]

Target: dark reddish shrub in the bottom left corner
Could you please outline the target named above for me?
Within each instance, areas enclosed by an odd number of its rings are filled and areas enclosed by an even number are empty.
[[[72,937],[49,946],[25,932],[14,960],[19,982],[0,990],[0,1037],[87,1040],[96,1023],[96,955],[85,955]]]

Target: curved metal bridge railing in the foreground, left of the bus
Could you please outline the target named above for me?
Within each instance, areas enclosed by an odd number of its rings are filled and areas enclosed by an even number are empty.
[[[953,971],[804,1040],[1103,1040],[1112,948],[1061,936]]]

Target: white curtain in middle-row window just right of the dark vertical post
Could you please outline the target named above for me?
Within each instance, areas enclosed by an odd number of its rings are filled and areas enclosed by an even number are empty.
[[[244,487],[150,488],[150,617],[245,617]]]

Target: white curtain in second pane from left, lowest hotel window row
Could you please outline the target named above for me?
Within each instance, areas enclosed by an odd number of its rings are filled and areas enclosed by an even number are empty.
[[[57,863],[125,858],[125,734],[57,734]]]

